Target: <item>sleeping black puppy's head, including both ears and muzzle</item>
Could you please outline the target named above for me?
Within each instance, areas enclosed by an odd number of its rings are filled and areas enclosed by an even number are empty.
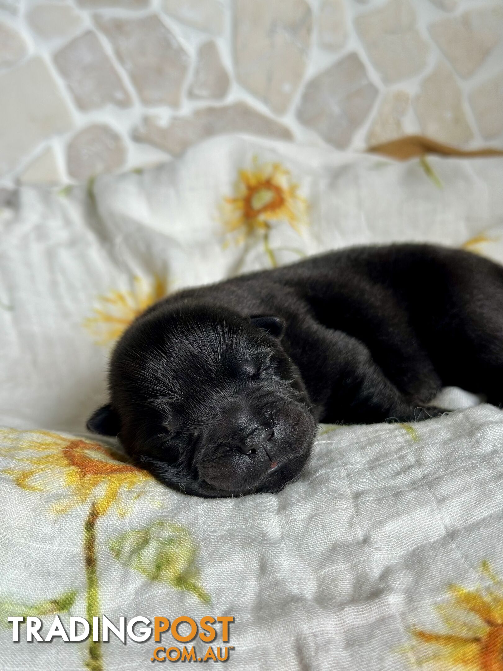
[[[280,490],[309,456],[315,420],[276,317],[162,304],[111,359],[111,403],[91,431],[119,435],[139,466],[187,494]]]

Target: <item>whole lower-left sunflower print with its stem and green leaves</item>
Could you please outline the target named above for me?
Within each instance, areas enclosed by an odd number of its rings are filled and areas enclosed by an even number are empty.
[[[107,517],[111,509],[124,517],[132,501],[154,482],[146,471],[127,462],[125,456],[112,448],[80,438],[66,437],[51,431],[21,432],[0,429],[0,454],[19,463],[19,468],[5,468],[3,474],[13,478],[21,489],[30,492],[54,492],[60,495],[50,506],[50,513],[66,515],[74,508],[89,506],[84,523],[82,550],[86,580],[86,619],[90,627],[93,617],[101,615],[99,574],[97,566],[97,522]],[[61,474],[64,484],[61,485]],[[56,483],[56,484],[54,484]],[[122,498],[129,492],[129,501]],[[155,580],[179,590],[191,592],[203,603],[209,595],[199,581],[196,566],[197,548],[183,527],[158,521],[138,531],[127,531],[113,539],[110,550],[121,563],[137,570],[147,580]],[[35,605],[17,604],[12,607],[0,601],[1,615],[13,611],[23,615],[68,612],[76,591],[65,592],[58,599],[40,601]],[[5,618],[6,619],[6,618]],[[100,631],[101,637],[101,631]],[[88,671],[103,671],[103,647],[89,636],[85,667]],[[83,646],[82,646],[83,647]]]

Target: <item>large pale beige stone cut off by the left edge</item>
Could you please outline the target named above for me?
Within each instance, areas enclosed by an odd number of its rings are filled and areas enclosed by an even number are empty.
[[[42,140],[73,127],[70,109],[42,58],[0,75],[0,175],[13,170]]]

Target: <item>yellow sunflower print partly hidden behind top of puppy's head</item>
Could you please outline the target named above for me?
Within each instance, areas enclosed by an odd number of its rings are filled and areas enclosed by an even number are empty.
[[[110,291],[98,298],[99,307],[95,307],[93,317],[84,321],[96,344],[106,345],[119,338],[129,324],[150,305],[168,294],[168,284],[158,276],[152,280],[133,277],[133,289]]]

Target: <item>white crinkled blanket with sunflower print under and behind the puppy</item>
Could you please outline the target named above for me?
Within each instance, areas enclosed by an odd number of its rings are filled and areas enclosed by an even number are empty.
[[[1,671],[152,668],[159,648],[238,670],[503,671],[502,411],[447,389],[447,417],[321,425],[298,482],[221,501],[164,488],[85,432],[111,346],[153,301],[349,244],[503,262],[502,183],[498,157],[237,137],[82,187],[0,191]],[[43,640],[56,616],[68,631],[103,615],[166,629]]]

